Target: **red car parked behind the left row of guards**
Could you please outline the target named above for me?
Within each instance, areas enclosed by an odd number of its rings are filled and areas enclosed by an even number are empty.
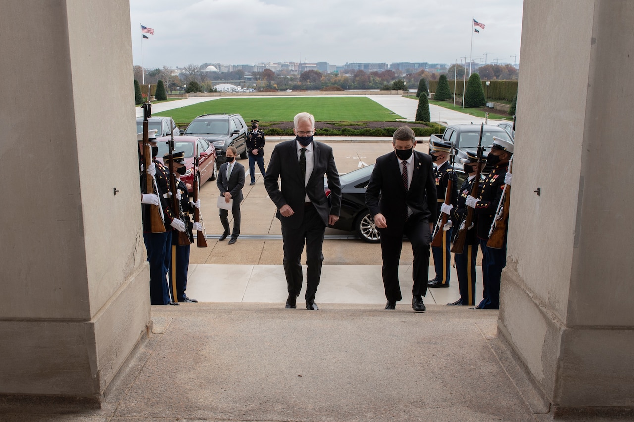
[[[163,162],[165,154],[169,153],[167,141],[171,136],[157,138],[159,154],[157,158]],[[174,152],[185,151],[185,165],[187,170],[181,180],[188,184],[188,191],[193,191],[194,177],[198,179],[198,188],[208,180],[215,180],[218,176],[218,163],[216,161],[216,148],[204,137],[198,136],[174,136]],[[194,157],[198,154],[198,169],[194,174]]]

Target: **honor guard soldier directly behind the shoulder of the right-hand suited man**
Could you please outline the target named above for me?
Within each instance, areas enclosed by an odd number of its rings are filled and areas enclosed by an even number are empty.
[[[429,155],[431,155],[436,170],[434,170],[434,176],[436,176],[436,194],[437,194],[437,209],[436,215],[441,215],[441,207],[444,203],[444,196],[446,194],[447,185],[450,178],[453,180],[452,192],[451,192],[451,205],[455,205],[457,199],[456,191],[456,173],[451,168],[449,158],[451,154],[451,144],[444,141],[430,141],[429,143]],[[436,270],[436,277],[429,280],[428,286],[430,288],[443,288],[449,287],[449,276],[451,268],[451,252],[450,252],[450,240],[452,229],[444,230],[446,227],[441,227],[443,230],[443,245],[432,246],[432,255],[434,255],[434,269]]]

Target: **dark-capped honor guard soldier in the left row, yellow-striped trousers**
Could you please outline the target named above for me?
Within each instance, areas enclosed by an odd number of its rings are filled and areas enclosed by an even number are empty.
[[[165,166],[169,169],[169,154],[165,154],[163,160]],[[181,180],[181,176],[185,174],[186,170],[184,151],[175,152],[174,171],[176,174],[174,176],[176,176],[176,199],[178,199],[181,207],[178,211],[181,212],[187,236],[190,238],[191,243],[193,243],[193,231],[202,231],[202,225],[191,221],[190,214],[194,212],[194,208],[200,208],[200,200],[196,203],[190,201],[187,186]],[[174,236],[172,238],[172,246],[176,246],[176,271],[174,272],[176,272],[176,294],[178,295],[178,302],[198,302],[198,300],[188,298],[185,295],[185,290],[187,290],[187,273],[190,267],[190,245],[179,245],[178,239]],[[172,285],[172,271],[169,272],[169,284]]]

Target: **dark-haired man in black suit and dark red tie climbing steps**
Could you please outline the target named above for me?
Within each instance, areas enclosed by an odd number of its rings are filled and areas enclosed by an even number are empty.
[[[405,235],[414,254],[411,307],[415,312],[423,312],[437,197],[432,158],[414,151],[415,146],[414,132],[409,127],[402,126],[394,132],[394,152],[377,158],[365,191],[365,203],[381,231],[385,309],[396,309],[396,302],[403,298],[398,263]]]

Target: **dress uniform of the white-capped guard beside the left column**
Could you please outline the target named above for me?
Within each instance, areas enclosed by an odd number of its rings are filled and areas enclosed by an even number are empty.
[[[156,131],[150,131],[156,132]],[[143,133],[138,134],[138,139],[143,140]],[[156,138],[150,138],[150,142],[156,142]],[[156,147],[153,147],[156,149]],[[139,169],[143,163],[143,157],[139,153]],[[156,174],[154,176],[157,182],[157,192],[160,205],[165,215],[165,231],[162,233],[152,233],[150,227],[150,207],[151,205],[141,204],[141,212],[143,219],[143,243],[148,253],[148,263],[150,265],[150,304],[151,305],[169,305],[171,297],[169,293],[169,285],[167,285],[167,272],[172,260],[172,226],[170,223],[175,215],[169,202],[169,172],[165,166],[153,160]],[[146,189],[145,177],[143,172],[139,172],[141,184],[141,192],[152,193],[153,189]]]

